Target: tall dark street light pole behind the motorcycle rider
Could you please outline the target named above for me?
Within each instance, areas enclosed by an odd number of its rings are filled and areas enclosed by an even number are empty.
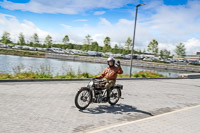
[[[133,50],[134,50],[134,43],[135,43],[135,30],[136,30],[136,21],[137,21],[137,12],[138,12],[138,7],[145,5],[144,3],[138,4],[136,6],[136,12],[135,12],[135,26],[134,26],[134,32],[133,32],[133,45],[132,45],[132,50],[131,50],[131,67],[130,67],[130,78],[131,78],[131,73],[132,73],[132,64],[133,64]]]

